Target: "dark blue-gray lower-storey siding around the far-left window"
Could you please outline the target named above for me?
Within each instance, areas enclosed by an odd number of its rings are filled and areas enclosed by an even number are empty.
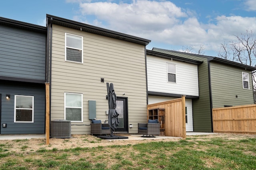
[[[42,134],[45,127],[44,84],[0,83],[2,94],[1,134]],[[10,100],[6,100],[10,94]],[[14,95],[34,96],[34,123],[14,123]],[[3,128],[2,124],[7,127]]]

